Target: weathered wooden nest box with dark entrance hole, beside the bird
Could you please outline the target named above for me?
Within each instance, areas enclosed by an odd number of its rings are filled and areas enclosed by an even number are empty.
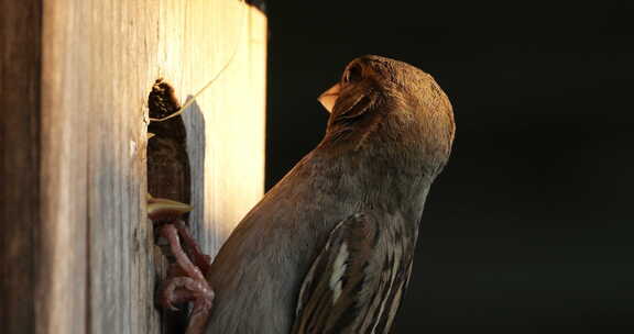
[[[183,116],[189,222],[215,255],[263,193],[265,15],[238,0],[0,10],[2,333],[163,333],[147,94],[163,77],[184,102],[221,71]]]

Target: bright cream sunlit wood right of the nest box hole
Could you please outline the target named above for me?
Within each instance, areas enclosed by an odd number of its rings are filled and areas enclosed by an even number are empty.
[[[182,76],[184,101],[231,62],[184,115],[193,204],[201,209],[190,220],[203,223],[198,234],[211,255],[264,192],[266,18],[241,2],[226,3],[199,0],[188,7],[182,48],[188,66],[178,74],[164,67],[166,77]],[[211,13],[218,19],[210,20]]]

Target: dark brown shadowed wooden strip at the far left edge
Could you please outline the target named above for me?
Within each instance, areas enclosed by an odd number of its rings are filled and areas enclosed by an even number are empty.
[[[0,324],[34,333],[41,1],[0,3]]]

